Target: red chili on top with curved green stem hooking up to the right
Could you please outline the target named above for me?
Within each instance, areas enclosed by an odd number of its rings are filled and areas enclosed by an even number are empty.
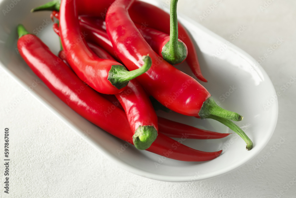
[[[86,45],[85,35],[80,31],[75,1],[62,1],[60,7],[60,37],[67,52],[67,61],[72,69],[96,91],[103,94],[117,94],[123,91],[129,80],[143,74],[149,64],[139,70],[128,72],[116,61],[99,58]]]

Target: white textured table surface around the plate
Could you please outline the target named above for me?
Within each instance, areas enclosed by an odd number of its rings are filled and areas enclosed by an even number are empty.
[[[9,194],[0,166],[0,197],[295,197],[295,7],[294,0],[179,0],[179,13],[256,60],[266,54],[261,65],[281,93],[278,124],[263,151],[239,169],[204,181],[161,182],[115,166],[0,70],[0,153],[9,127],[12,160]]]

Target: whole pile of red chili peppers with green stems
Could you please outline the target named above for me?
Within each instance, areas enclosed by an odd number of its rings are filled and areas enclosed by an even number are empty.
[[[157,117],[155,110],[217,120],[252,141],[211,94],[173,65],[186,61],[202,76],[194,44],[178,23],[178,0],[170,14],[135,0],[59,0],[32,10],[51,10],[61,51],[50,49],[24,26],[17,30],[20,55],[63,102],[83,118],[136,148],[181,161],[207,161],[222,151],[204,152],[172,138],[217,139],[229,134],[197,129]],[[83,33],[83,34],[82,34]],[[182,37],[178,38],[178,35]],[[172,137],[172,138],[171,138]]]

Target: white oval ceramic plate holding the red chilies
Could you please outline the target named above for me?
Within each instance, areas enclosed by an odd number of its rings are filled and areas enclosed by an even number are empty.
[[[4,0],[0,4],[0,10],[7,11],[0,16],[0,65],[25,88],[29,88],[37,77],[17,54],[17,24],[22,23],[28,31],[38,34],[54,53],[59,50],[58,37],[52,31],[49,19],[50,12],[30,13],[30,9],[45,2],[47,0],[22,0],[12,5],[12,1]],[[220,56],[213,58],[217,50],[225,47],[226,40],[185,16],[179,16],[179,20],[198,45],[202,72],[209,81],[202,84],[210,91],[215,101],[220,102],[221,107],[244,116],[244,120],[237,122],[237,125],[254,142],[251,151],[245,150],[245,142],[240,137],[231,134],[220,140],[186,139],[182,142],[202,151],[223,149],[222,155],[212,161],[183,162],[165,159],[154,153],[127,146],[126,142],[102,131],[67,107],[43,83],[34,88],[31,94],[113,163],[137,175],[163,181],[192,181],[230,172],[255,157],[274,132],[278,115],[274,87],[266,72],[261,66],[255,65],[255,60],[247,53],[230,45]],[[183,65],[183,68],[187,68],[186,65]],[[192,75],[189,69],[183,70]],[[159,114],[203,129],[221,133],[232,132],[214,120],[200,120],[176,113]],[[86,131],[87,133],[84,133]],[[118,150],[124,151],[118,154]],[[156,166],[155,162],[160,165]]]

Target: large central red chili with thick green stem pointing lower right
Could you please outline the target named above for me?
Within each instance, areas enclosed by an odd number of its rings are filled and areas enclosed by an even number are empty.
[[[148,93],[177,113],[202,119],[212,118],[223,124],[229,124],[224,120],[226,118],[241,121],[241,115],[219,107],[200,83],[168,62],[161,61],[129,17],[128,8],[133,2],[134,0],[118,0],[113,3],[112,9],[107,11],[106,27],[113,48],[129,70],[139,68],[142,62],[139,57],[144,54],[149,54],[152,58],[151,69],[137,77]],[[252,149],[250,138],[244,134],[243,139],[247,143],[247,150]]]

